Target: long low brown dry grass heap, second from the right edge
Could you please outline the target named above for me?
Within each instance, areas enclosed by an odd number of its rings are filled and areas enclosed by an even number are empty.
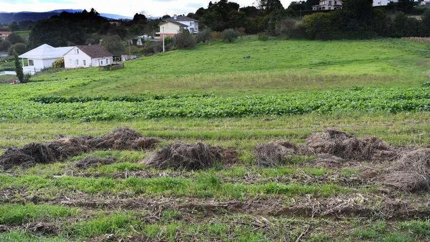
[[[376,137],[356,138],[345,132],[328,129],[313,133],[306,139],[304,149],[311,154],[333,154],[344,159],[371,160],[395,157],[395,153]]]

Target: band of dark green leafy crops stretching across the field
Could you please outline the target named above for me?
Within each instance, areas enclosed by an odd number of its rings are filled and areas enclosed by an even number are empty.
[[[129,120],[246,117],[310,112],[430,111],[430,88],[350,88],[299,94],[221,97],[213,94],[62,97],[88,80],[0,87],[0,119]]]

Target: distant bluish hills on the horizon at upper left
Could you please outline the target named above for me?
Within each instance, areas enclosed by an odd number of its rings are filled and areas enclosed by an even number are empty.
[[[58,15],[62,12],[81,12],[82,9],[56,9],[49,12],[16,12],[16,13],[6,13],[0,12],[0,23],[11,23],[11,22],[21,22],[21,21],[39,21],[43,19],[49,19],[52,16]],[[100,13],[102,17],[107,19],[119,20],[119,19],[133,19],[132,17],[122,16],[118,14]]]

